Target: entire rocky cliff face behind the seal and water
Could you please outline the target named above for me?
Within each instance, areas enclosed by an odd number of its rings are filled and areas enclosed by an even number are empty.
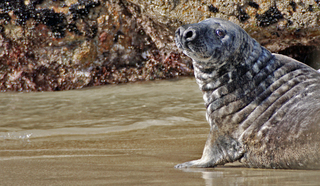
[[[68,90],[192,75],[175,29],[209,17],[273,52],[318,63],[319,1],[4,0],[0,90]]]

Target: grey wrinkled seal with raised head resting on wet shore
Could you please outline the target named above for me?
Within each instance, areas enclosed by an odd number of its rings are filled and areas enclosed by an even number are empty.
[[[210,125],[201,159],[176,168],[320,169],[318,71],[218,18],[179,27],[175,42],[193,59]]]

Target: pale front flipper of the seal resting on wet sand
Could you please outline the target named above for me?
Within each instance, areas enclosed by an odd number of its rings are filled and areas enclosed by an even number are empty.
[[[230,136],[219,136],[214,142],[210,133],[201,159],[178,164],[175,168],[215,167],[239,160],[244,154],[243,145]]]

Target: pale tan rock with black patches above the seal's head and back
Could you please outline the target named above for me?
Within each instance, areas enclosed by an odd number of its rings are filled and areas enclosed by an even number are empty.
[[[320,1],[317,0],[129,0],[144,14],[173,27],[210,17],[244,28],[272,52],[289,55],[320,68]]]

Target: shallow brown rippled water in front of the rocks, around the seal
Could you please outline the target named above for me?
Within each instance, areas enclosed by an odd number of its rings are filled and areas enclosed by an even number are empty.
[[[193,78],[0,94],[0,185],[319,185],[320,171],[200,158],[208,124]]]

